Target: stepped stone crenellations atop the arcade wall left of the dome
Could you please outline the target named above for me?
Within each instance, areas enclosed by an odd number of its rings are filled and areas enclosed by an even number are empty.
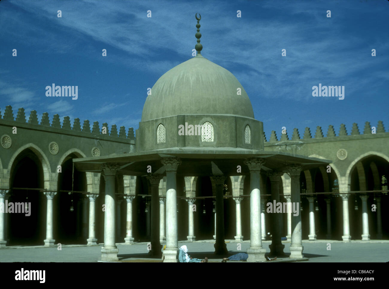
[[[63,118],[63,122],[61,123],[60,115],[54,114],[53,121],[50,123],[49,114],[47,112],[44,112],[39,122],[37,111],[33,110],[30,112],[30,116],[28,117],[28,121],[27,121],[25,115],[25,109],[23,107],[18,109],[16,118],[14,118],[12,106],[6,106],[4,111],[4,116],[2,116],[2,112],[0,110],[0,120],[14,121],[17,123],[25,123],[27,125],[40,125],[42,127],[50,126],[52,128],[59,128],[61,130],[81,132],[85,134],[105,135],[107,137],[126,138],[128,140],[135,140],[133,128],[129,128],[128,133],[126,134],[126,128],[124,126],[121,126],[119,132],[117,132],[116,125],[112,125],[111,129],[109,130],[108,124],[103,123],[103,126],[100,129],[98,121],[95,121],[91,128],[88,119],[84,120],[84,123],[81,124],[80,119],[75,118],[72,124],[70,121],[70,117],[65,116]],[[15,126],[18,126],[18,124],[15,124]],[[103,128],[105,128],[104,133],[102,133]]]

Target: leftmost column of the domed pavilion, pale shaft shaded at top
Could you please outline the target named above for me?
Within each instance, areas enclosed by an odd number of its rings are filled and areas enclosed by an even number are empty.
[[[116,163],[102,164],[105,176],[105,212],[104,212],[104,246],[101,249],[101,261],[117,261],[115,244],[115,185],[116,173],[120,166]]]

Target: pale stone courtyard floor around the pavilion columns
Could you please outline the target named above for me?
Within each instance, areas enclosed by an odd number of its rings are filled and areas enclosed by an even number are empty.
[[[226,257],[239,252],[245,252],[250,246],[249,241],[241,242],[241,251],[237,250],[235,240],[226,241],[230,252]],[[263,241],[263,247],[269,254],[270,241]],[[290,242],[282,242],[285,245],[284,252],[289,255]],[[328,243],[331,250],[327,250]],[[223,256],[215,256],[214,240],[186,242],[180,241],[188,247],[189,254],[194,258],[209,258],[209,262],[220,262]],[[389,261],[389,240],[382,241],[351,241],[343,243],[335,240],[303,241],[304,257],[309,258],[305,262],[387,262]],[[101,256],[101,247],[62,245],[59,251],[56,247],[6,247],[0,249],[0,262],[96,262]],[[121,262],[158,262],[148,257],[147,243],[133,245],[117,244],[119,249],[119,261]],[[277,261],[288,261],[288,258],[279,256]],[[228,261],[233,263],[237,261]],[[238,261],[241,262],[241,261]],[[271,261],[274,262],[274,261]]]

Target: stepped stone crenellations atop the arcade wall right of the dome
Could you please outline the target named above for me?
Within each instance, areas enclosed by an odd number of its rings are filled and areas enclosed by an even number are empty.
[[[304,130],[304,134],[303,134],[302,139],[303,140],[307,140],[307,139],[323,139],[324,140],[324,139],[333,138],[333,137],[352,137],[352,136],[356,136],[356,135],[377,135],[378,136],[380,133],[386,133],[385,128],[384,128],[384,124],[382,123],[382,121],[378,121],[378,124],[377,124],[377,126],[375,126],[375,129],[373,129],[373,127],[370,125],[370,122],[366,121],[364,128],[363,128],[363,133],[359,132],[359,127],[358,127],[357,123],[353,123],[352,128],[351,128],[351,133],[348,134],[347,130],[346,130],[346,126],[342,123],[340,125],[339,135],[335,134],[335,130],[334,130],[333,125],[328,126],[328,131],[327,131],[326,137],[324,137],[324,133],[322,131],[321,126],[316,127],[315,137],[312,137],[310,128],[306,127]],[[270,140],[266,140],[265,133],[263,134],[263,136],[264,136],[265,143],[266,142],[267,143],[284,142],[284,141],[291,141],[292,142],[292,141],[300,141],[301,140],[301,137],[300,137],[300,134],[299,134],[297,128],[293,129],[293,134],[292,134],[291,139],[288,137],[287,133],[282,133],[281,138],[279,140],[277,138],[276,132],[274,130],[270,134]]]

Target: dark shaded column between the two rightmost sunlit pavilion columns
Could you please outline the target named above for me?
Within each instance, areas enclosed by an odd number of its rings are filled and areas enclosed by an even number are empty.
[[[283,173],[272,171],[268,173],[272,185],[272,201],[277,204],[280,201],[279,180]],[[272,214],[272,244],[269,245],[270,254],[273,256],[284,255],[285,245],[281,242],[281,215],[273,212]]]

